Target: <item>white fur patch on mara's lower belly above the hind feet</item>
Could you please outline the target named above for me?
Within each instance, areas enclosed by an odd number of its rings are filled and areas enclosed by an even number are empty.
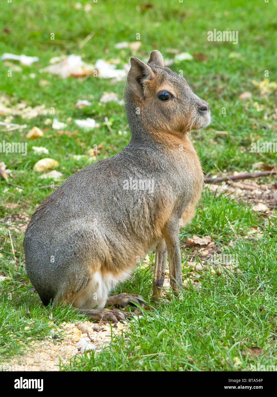
[[[102,309],[107,301],[108,295],[120,282],[125,281],[131,275],[131,270],[125,270],[117,275],[100,271],[95,272],[86,287],[74,300],[73,305],[80,309],[97,308]]]

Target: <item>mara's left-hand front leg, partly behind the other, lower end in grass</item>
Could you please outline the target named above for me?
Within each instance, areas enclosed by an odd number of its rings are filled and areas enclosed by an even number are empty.
[[[158,242],[156,248],[155,270],[152,284],[152,301],[158,301],[162,298],[162,287],[164,285],[166,262],[167,248],[164,239],[162,239]]]

